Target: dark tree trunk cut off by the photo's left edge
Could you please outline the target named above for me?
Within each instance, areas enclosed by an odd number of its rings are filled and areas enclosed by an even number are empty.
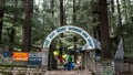
[[[2,6],[2,4],[4,4],[4,0],[0,0],[0,6]],[[2,36],[2,25],[3,25],[3,21],[2,21],[2,19],[3,19],[3,14],[4,14],[4,12],[3,12],[3,8],[0,8],[0,44],[1,44],[1,36]]]

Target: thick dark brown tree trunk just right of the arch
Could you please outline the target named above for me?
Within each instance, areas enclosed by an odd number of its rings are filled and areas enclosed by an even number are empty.
[[[100,32],[102,58],[111,58],[111,50],[109,50],[109,20],[106,0],[100,0]]]

